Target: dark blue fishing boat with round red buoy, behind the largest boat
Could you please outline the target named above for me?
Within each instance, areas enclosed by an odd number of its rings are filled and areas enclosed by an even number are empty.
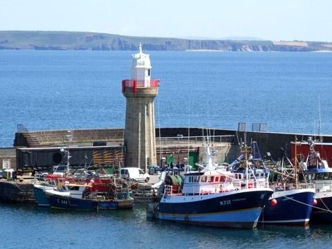
[[[250,147],[244,146],[243,153],[250,156],[248,161],[243,161],[243,154],[230,166],[232,171],[242,172],[248,183],[254,186],[268,185],[273,189],[273,194],[259,217],[259,223],[275,225],[308,225],[313,210],[315,189],[310,184],[298,183],[268,183],[270,170],[266,167],[257,142],[251,142]],[[248,163],[246,170],[239,169],[243,163]],[[295,165],[296,167],[296,165]],[[293,172],[297,174],[297,172]]]

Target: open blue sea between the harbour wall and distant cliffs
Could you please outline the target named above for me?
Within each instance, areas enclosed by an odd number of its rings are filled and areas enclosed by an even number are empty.
[[[30,130],[124,127],[131,51],[0,50],[0,147]],[[332,53],[149,52],[156,126],[332,134]],[[319,101],[320,100],[320,101]]]

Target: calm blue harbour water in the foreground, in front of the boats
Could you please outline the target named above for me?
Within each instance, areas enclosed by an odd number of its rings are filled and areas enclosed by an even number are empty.
[[[0,205],[1,248],[331,248],[331,225],[253,230],[150,221],[133,210],[68,212]]]

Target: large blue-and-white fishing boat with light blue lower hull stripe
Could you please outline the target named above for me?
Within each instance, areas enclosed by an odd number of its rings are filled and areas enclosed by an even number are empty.
[[[210,149],[208,149],[208,152]],[[159,201],[149,203],[147,216],[196,225],[255,228],[273,190],[249,185],[238,174],[208,163],[200,172],[184,174],[183,186],[165,185]]]

